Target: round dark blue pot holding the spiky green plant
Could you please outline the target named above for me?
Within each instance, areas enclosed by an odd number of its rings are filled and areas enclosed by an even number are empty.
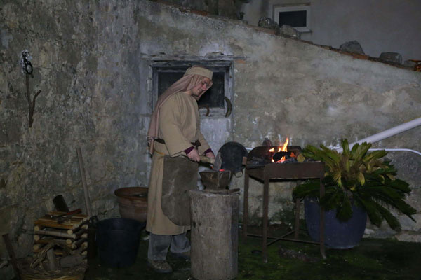
[[[315,200],[304,200],[305,222],[309,236],[319,242],[320,207]],[[336,218],[336,209],[325,211],[325,245],[328,248],[347,249],[359,244],[366,229],[367,214],[363,209],[352,207],[352,218],[342,222]]]

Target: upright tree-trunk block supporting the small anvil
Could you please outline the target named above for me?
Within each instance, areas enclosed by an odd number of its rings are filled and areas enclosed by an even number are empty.
[[[238,274],[239,195],[221,190],[190,190],[192,276],[234,279]]]

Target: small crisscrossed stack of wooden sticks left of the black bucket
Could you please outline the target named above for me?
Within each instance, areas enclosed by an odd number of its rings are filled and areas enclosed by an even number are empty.
[[[47,270],[75,267],[87,262],[89,217],[48,212],[34,222],[34,262]],[[46,259],[46,260],[45,260]]]

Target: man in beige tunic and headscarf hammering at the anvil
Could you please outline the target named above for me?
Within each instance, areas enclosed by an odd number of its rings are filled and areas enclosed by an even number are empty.
[[[196,187],[200,155],[215,158],[200,132],[197,106],[197,100],[212,85],[212,76],[213,72],[203,66],[190,67],[180,80],[161,94],[152,113],[148,131],[152,170],[146,230],[150,232],[148,265],[157,272],[172,272],[171,265],[166,262],[168,248],[174,255],[189,259],[188,197],[178,200],[175,193],[185,185],[193,183]],[[188,195],[189,192],[182,193]],[[187,213],[187,220],[184,217],[184,221],[180,221],[180,211]]]

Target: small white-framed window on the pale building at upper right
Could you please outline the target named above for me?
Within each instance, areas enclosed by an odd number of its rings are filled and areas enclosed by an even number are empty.
[[[274,6],[274,20],[282,25],[289,25],[300,32],[310,31],[310,6],[309,4],[291,6]]]

